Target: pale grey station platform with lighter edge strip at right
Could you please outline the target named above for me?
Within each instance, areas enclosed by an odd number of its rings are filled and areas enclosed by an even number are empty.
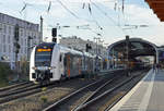
[[[164,111],[164,71],[150,70],[109,111]]]

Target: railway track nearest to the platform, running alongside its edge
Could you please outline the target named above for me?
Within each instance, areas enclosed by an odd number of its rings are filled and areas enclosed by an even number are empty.
[[[142,72],[143,73],[143,72]],[[93,95],[93,97],[89,98],[85,102],[79,106],[77,109],[72,111],[108,111],[115,103],[117,103],[128,91],[117,95],[117,99],[113,100],[108,106],[105,106],[109,101],[109,97],[112,92],[118,90],[118,88],[122,87],[124,85],[133,84],[131,87],[128,88],[130,90],[137,83],[132,81],[137,77],[141,76],[140,74],[133,75],[121,83],[116,84],[113,88],[107,90],[101,91],[99,95]],[[130,85],[128,85],[130,86]],[[110,97],[112,99],[114,97]],[[96,107],[95,107],[96,106]],[[103,108],[104,107],[104,108]]]

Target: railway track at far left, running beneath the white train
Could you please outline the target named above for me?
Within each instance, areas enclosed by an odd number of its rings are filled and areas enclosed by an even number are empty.
[[[75,81],[75,79],[69,79],[69,81],[62,82],[62,83],[55,82],[48,86],[43,86],[43,87],[46,87],[46,89],[56,88],[59,90],[60,86],[66,86],[65,84],[71,83],[72,81]],[[5,88],[3,91],[2,90],[0,91],[0,104],[7,103],[9,101],[12,101],[12,100],[15,100],[19,98],[23,98],[26,96],[35,95],[37,92],[42,92],[43,87],[40,87],[39,85],[35,85],[33,83],[27,83],[27,84],[23,84],[23,85],[17,85],[17,87],[15,86],[13,88],[10,88],[9,90],[8,90],[8,88]]]

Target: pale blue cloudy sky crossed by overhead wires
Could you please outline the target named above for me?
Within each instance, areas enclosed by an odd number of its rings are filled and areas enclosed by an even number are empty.
[[[99,37],[104,45],[125,39],[126,35],[164,45],[164,23],[144,0],[125,0],[124,11],[122,0],[1,0],[0,7],[1,13],[36,24],[42,15],[44,38],[48,39],[51,28],[57,27],[61,37],[92,41]]]

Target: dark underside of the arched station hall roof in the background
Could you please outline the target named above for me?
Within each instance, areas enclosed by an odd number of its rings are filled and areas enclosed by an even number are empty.
[[[127,55],[127,44],[125,40],[117,41],[108,47],[109,55],[115,54],[117,58],[122,58]],[[129,59],[134,59],[137,57],[144,55],[156,55],[157,47],[141,38],[130,38],[129,39]]]

